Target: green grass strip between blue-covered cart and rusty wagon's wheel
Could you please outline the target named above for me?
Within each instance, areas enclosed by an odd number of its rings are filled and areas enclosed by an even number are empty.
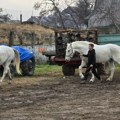
[[[36,65],[35,75],[51,75],[55,73],[61,74],[62,67],[58,65]]]

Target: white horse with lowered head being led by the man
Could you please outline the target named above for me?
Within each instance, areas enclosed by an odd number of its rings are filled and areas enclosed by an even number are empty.
[[[79,75],[81,78],[84,78],[82,74],[82,68],[87,64],[87,59],[83,57],[83,54],[88,53],[88,46],[90,42],[87,41],[76,41],[67,44],[66,48],[66,56],[65,60],[70,61],[75,52],[79,52],[82,62],[79,66]],[[93,43],[92,43],[93,44]],[[120,46],[114,44],[106,44],[106,45],[96,45],[94,44],[94,49],[96,51],[96,63],[109,63],[110,67],[110,76],[108,77],[108,81],[112,81],[115,65],[114,62],[120,64]],[[92,79],[90,81],[94,81],[94,75],[92,74]]]

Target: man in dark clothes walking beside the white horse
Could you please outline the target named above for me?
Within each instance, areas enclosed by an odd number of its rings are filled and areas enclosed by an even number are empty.
[[[96,72],[96,53],[95,53],[95,49],[93,49],[93,48],[94,48],[94,44],[89,44],[88,54],[83,55],[84,57],[88,57],[88,63],[87,63],[87,69],[86,69],[86,72],[85,72],[85,77],[81,81],[81,83],[86,82],[86,80],[88,78],[88,74],[89,74],[90,71],[92,71],[92,73],[95,75],[96,78],[101,80],[100,76]]]

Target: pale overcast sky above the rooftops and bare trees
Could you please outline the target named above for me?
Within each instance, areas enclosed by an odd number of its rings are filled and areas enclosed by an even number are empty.
[[[31,16],[38,16],[39,11],[34,10],[35,2],[44,0],[0,0],[0,8],[3,8],[4,13],[12,14],[12,19],[19,20],[20,14],[23,15],[23,21]],[[60,6],[65,8],[64,0],[60,0]],[[68,0],[70,1],[70,0]]]

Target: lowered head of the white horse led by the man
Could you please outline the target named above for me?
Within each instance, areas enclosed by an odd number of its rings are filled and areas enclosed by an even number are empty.
[[[70,61],[70,59],[73,57],[74,53],[75,53],[75,51],[72,47],[72,43],[68,43],[67,48],[66,48],[65,60]]]

